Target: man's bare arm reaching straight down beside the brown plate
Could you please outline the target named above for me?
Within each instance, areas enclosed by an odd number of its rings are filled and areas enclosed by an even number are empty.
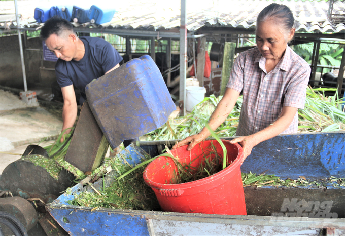
[[[72,128],[77,118],[77,100],[76,94],[74,92],[73,85],[69,85],[61,88],[62,97],[63,97],[63,108],[62,108],[62,132],[65,129]],[[68,129],[64,134],[70,133],[71,129]],[[62,136],[61,142],[64,138]]]

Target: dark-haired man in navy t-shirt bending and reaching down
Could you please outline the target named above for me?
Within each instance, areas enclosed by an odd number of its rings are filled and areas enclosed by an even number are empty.
[[[79,38],[73,26],[60,17],[47,20],[41,37],[48,49],[59,58],[55,73],[63,96],[62,131],[73,127],[77,118],[77,101],[73,86],[80,92],[79,104],[86,99],[85,86],[119,67],[122,57],[116,49],[101,38]],[[65,131],[65,133],[70,132]],[[61,138],[63,141],[63,138]]]

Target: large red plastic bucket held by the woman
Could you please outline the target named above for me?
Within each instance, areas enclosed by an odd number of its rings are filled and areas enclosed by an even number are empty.
[[[239,144],[222,140],[227,149],[227,161],[231,163],[224,170],[209,177],[188,182],[176,182],[177,166],[172,158],[160,156],[152,161],[143,173],[144,181],[155,192],[162,210],[170,212],[247,215],[245,195],[240,171],[243,149]],[[187,145],[171,150],[180,163],[197,167],[215,147],[218,155],[223,149],[216,140],[197,144],[191,151]],[[214,155],[210,155],[214,158]]]

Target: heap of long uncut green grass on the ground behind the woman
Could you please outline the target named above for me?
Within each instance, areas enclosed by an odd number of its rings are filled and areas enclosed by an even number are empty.
[[[336,132],[345,129],[344,103],[338,95],[325,96],[325,92],[334,92],[335,89],[311,89],[307,88],[305,108],[298,110],[299,126],[298,132]],[[160,128],[149,132],[141,138],[151,140],[184,139],[190,135],[197,134],[209,121],[209,118],[221,100],[222,96],[216,98],[214,95],[205,97],[189,114],[169,119],[168,123]],[[239,121],[242,96],[239,96],[237,103],[227,119],[221,124],[215,133],[218,137],[233,137]]]

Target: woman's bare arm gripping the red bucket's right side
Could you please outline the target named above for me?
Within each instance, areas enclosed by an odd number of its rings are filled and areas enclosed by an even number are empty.
[[[231,143],[240,143],[243,147],[244,157],[241,161],[241,164],[247,158],[247,156],[250,155],[254,146],[265,140],[273,138],[286,130],[291,124],[297,110],[298,109],[296,107],[283,106],[282,112],[278,116],[277,120],[273,122],[273,124],[270,124],[268,127],[255,134],[238,137],[231,140]]]

